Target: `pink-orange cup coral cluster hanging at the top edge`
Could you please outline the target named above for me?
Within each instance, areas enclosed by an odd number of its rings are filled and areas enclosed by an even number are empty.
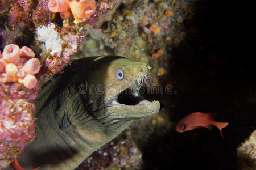
[[[96,10],[96,3],[94,0],[49,0],[48,8],[51,12],[60,12],[62,19],[72,13],[77,24],[90,18]]]

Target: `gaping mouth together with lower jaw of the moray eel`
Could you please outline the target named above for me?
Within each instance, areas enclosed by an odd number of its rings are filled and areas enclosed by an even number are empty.
[[[146,81],[147,74],[139,76],[130,87],[112,97],[108,106],[118,111],[114,118],[143,118],[158,113],[159,101],[148,101],[139,94],[139,89]]]

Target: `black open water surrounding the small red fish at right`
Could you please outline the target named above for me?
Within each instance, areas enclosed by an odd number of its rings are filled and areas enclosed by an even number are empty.
[[[255,2],[197,1],[196,6],[186,22],[187,37],[170,50],[165,79],[177,95],[158,100],[173,122],[200,111],[216,112],[216,120],[229,125],[222,130],[224,139],[215,127],[155,133],[142,148],[144,169],[239,169],[236,148],[256,128]]]

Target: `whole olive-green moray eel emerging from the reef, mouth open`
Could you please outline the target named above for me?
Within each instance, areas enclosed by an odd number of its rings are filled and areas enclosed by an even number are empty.
[[[127,126],[159,111],[139,87],[151,69],[124,57],[73,61],[42,87],[36,103],[36,138],[19,164],[24,169],[75,169]]]

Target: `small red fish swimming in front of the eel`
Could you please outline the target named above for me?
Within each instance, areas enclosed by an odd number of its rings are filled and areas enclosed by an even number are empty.
[[[223,138],[221,129],[228,126],[229,123],[216,122],[214,120],[214,116],[216,116],[216,113],[195,112],[188,114],[177,123],[175,130],[181,133],[187,130],[193,130],[202,127],[212,129],[211,125],[214,125],[220,129],[221,137]]]

